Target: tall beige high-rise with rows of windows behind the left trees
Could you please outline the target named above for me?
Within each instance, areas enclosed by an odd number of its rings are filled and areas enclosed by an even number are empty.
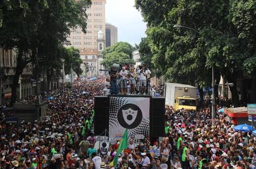
[[[87,33],[83,33],[81,28],[73,30],[67,38],[71,45],[77,49],[95,49],[97,50],[98,32],[102,30],[104,37],[106,37],[106,23],[105,23],[105,4],[106,0],[92,0],[90,8],[86,9],[87,19]]]

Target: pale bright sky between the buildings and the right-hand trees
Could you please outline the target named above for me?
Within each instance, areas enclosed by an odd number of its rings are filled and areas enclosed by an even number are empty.
[[[106,0],[106,22],[118,28],[119,42],[139,44],[146,36],[146,23],[134,7],[134,0]]]

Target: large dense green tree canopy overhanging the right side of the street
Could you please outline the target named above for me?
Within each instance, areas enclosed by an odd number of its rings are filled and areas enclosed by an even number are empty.
[[[214,66],[239,103],[237,78],[255,78],[256,2],[136,0],[147,22],[152,62],[170,81],[210,86]],[[185,28],[174,28],[183,25]]]

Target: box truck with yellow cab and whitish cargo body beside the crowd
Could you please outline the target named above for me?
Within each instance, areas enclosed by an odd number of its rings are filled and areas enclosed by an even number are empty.
[[[197,88],[191,85],[165,83],[165,104],[173,106],[175,110],[196,110]]]

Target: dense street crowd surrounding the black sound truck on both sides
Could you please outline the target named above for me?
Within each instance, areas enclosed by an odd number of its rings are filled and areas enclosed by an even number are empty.
[[[127,150],[118,155],[117,140],[102,156],[92,132],[93,96],[102,95],[105,83],[103,78],[76,81],[63,93],[52,91],[53,99],[47,101],[47,115],[41,122],[7,124],[4,117],[11,114],[3,111],[0,168],[256,168],[256,137],[252,132],[235,131],[234,125],[218,111],[212,126],[208,107],[195,112],[174,111],[166,106],[165,137],[145,138],[139,143],[129,138]],[[116,165],[115,156],[118,156]]]

